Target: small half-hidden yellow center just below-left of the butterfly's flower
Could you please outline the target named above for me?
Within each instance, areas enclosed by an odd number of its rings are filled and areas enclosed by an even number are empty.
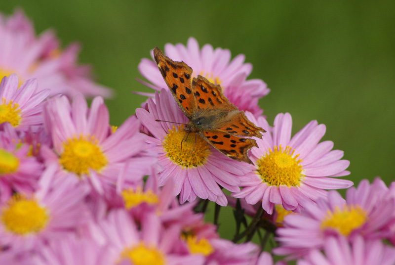
[[[130,209],[144,202],[153,205],[159,201],[158,196],[151,189],[144,192],[141,187],[137,187],[136,190],[124,189],[121,196],[126,209]]]

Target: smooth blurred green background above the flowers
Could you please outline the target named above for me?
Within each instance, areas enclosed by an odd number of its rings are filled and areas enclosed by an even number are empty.
[[[323,140],[344,150],[348,179],[395,171],[395,1],[1,1],[24,10],[36,31],[52,28],[63,45],[82,45],[80,62],[114,88],[107,100],[119,125],[151,91],[136,81],[137,66],[165,43],[209,43],[253,65],[249,78],[271,92],[260,105],[272,124],[293,118],[293,133],[311,120],[327,127]],[[231,217],[230,217],[231,218]],[[222,221],[224,223],[226,221]]]

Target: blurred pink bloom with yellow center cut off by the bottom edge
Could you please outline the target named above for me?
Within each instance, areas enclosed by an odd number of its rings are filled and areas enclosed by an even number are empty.
[[[106,251],[110,255],[108,264],[133,265],[202,265],[203,257],[184,255],[172,251],[178,245],[180,227],[164,228],[155,213],[146,214],[141,228],[126,211],[118,209],[99,222],[109,241]]]

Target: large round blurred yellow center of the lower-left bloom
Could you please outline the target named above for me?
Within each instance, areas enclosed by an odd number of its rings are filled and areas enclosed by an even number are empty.
[[[48,223],[47,209],[40,206],[35,199],[14,194],[1,208],[1,222],[11,233],[27,235],[38,233]]]

